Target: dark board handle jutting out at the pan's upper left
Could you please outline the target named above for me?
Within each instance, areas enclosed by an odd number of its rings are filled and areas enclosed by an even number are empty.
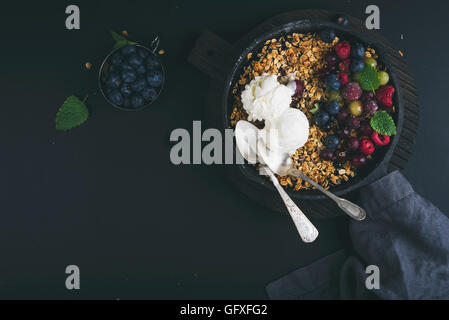
[[[235,59],[232,45],[211,31],[202,33],[188,57],[189,63],[222,83],[228,78]]]

